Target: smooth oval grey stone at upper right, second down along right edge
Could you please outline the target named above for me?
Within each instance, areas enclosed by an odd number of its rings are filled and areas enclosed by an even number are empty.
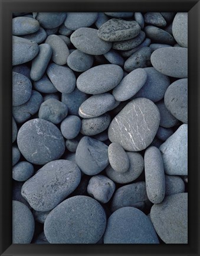
[[[188,49],[165,47],[155,50],[150,57],[155,69],[175,78],[188,77]]]

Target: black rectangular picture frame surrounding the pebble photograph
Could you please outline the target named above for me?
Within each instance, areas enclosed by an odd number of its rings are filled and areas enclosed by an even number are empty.
[[[200,2],[196,0],[1,0],[0,255],[200,255],[199,46]],[[188,12],[188,244],[12,244],[12,12]]]

